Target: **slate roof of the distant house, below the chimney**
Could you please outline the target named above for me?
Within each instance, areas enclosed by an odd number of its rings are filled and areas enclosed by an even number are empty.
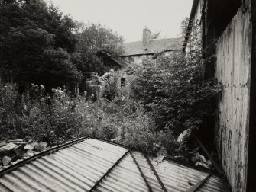
[[[168,50],[180,50],[183,47],[183,38],[156,39],[148,43],[142,41],[122,43],[125,50],[122,56],[144,55],[145,49],[147,54],[160,53]]]

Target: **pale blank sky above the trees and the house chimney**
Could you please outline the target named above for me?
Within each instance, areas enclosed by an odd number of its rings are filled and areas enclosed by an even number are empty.
[[[179,37],[180,22],[190,16],[193,0],[52,0],[64,14],[85,23],[99,23],[125,38],[142,38],[145,26],[160,37]]]

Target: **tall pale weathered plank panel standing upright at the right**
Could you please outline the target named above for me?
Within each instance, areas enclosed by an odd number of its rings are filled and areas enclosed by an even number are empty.
[[[215,77],[224,85],[216,139],[232,191],[245,191],[251,74],[250,11],[240,9],[216,45]]]

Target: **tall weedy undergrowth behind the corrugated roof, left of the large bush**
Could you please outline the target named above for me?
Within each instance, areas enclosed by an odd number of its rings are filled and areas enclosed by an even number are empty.
[[[37,85],[18,94],[15,84],[6,84],[1,85],[0,96],[1,139],[28,138],[53,146],[97,136],[143,152],[157,152],[161,139],[174,142],[155,131],[151,113],[124,95],[93,102],[84,96],[72,98],[61,88],[53,89],[50,97]]]

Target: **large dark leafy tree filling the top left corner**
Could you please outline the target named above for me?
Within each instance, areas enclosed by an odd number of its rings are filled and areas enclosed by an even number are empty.
[[[76,45],[72,18],[41,0],[2,1],[3,78],[20,88],[51,88],[81,78],[70,58]]]

